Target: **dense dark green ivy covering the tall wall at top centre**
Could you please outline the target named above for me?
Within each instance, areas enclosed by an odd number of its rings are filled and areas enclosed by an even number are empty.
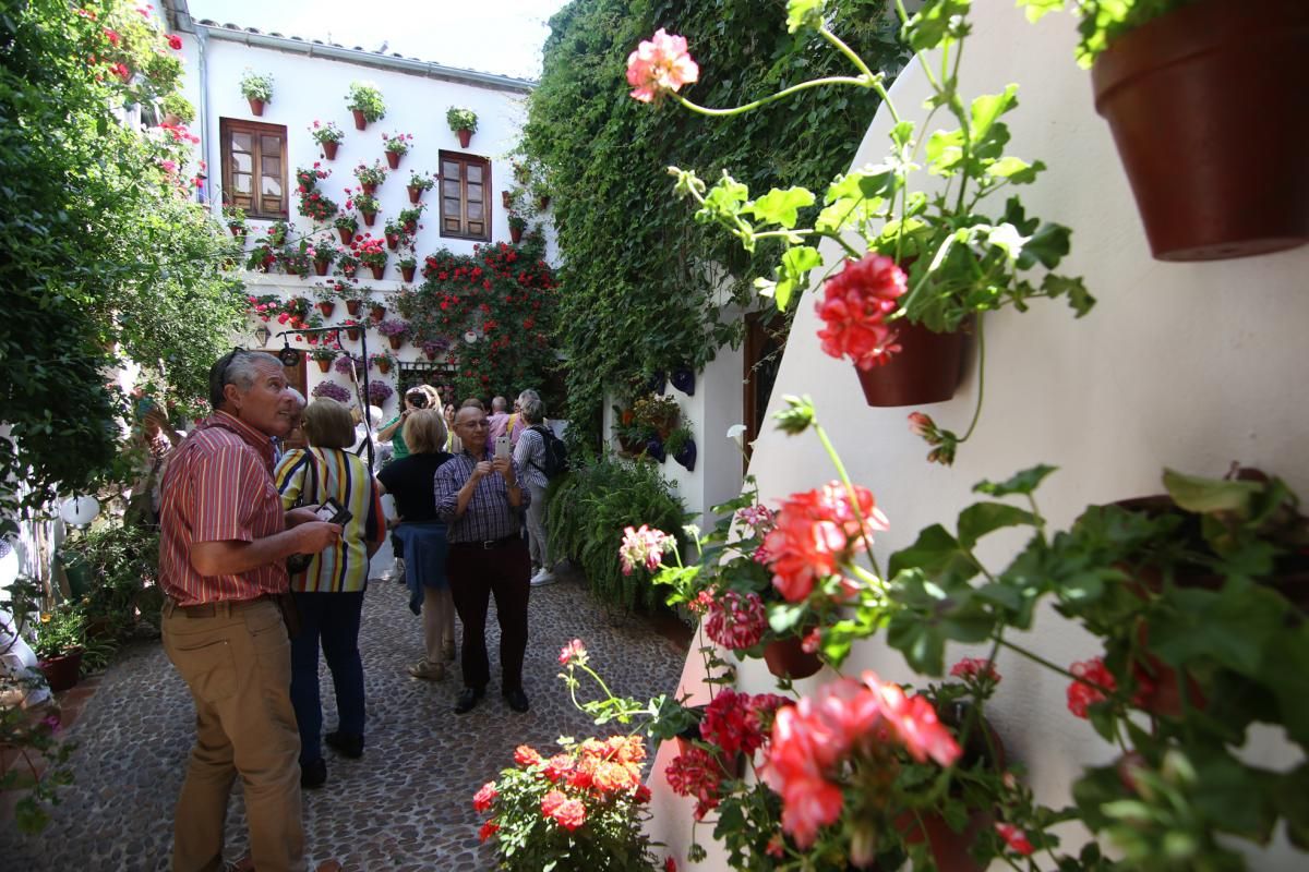
[[[781,109],[732,119],[653,110],[627,97],[627,55],[657,27],[690,41],[702,102],[732,105],[840,67],[809,33],[787,34],[774,0],[577,0],[550,21],[545,71],[531,94],[522,150],[554,201],[563,256],[556,348],[568,358],[571,434],[597,442],[607,386],[626,375],[700,369],[740,337],[720,319],[720,285],[738,299],[763,268],[668,196],[665,167],[737,167],[754,187],[819,186],[843,171],[872,120],[868,93],[812,90]],[[830,13],[852,47],[895,67],[886,4]],[[768,244],[759,258],[775,254]],[[724,275],[725,272],[725,275]],[[603,324],[603,329],[597,329]]]

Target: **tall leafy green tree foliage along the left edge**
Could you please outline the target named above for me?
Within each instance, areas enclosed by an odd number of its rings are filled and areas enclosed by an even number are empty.
[[[12,426],[0,478],[29,488],[0,495],[7,519],[111,473],[124,408],[105,373],[117,354],[145,367],[156,401],[192,413],[243,314],[221,268],[230,235],[162,169],[185,166],[183,146],[113,114],[166,90],[85,63],[110,52],[106,21],[141,16],[117,1],[82,5],[98,20],[59,0],[0,16],[0,420]],[[123,25],[134,52],[169,51],[135,22]]]

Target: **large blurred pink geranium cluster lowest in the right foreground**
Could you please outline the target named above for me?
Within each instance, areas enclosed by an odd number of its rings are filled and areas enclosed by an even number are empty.
[[[872,756],[889,739],[919,762],[952,766],[961,753],[925,698],[907,696],[873,672],[864,672],[863,681],[829,684],[778,711],[761,777],[781,796],[781,829],[797,846],[812,846],[819,829],[840,818],[842,765]]]

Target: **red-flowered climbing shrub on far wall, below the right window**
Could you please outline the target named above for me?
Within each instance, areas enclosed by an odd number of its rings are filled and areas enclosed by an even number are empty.
[[[516,396],[541,388],[556,366],[548,346],[559,289],[534,248],[496,243],[473,255],[448,250],[423,261],[424,282],[398,298],[414,335],[450,341],[457,396]],[[466,333],[475,336],[463,341]]]

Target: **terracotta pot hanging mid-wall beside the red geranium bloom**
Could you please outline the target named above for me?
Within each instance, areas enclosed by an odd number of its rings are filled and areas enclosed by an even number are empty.
[[[933,333],[903,319],[899,324],[901,350],[881,366],[855,370],[868,405],[923,405],[953,397],[963,378],[967,331]]]

